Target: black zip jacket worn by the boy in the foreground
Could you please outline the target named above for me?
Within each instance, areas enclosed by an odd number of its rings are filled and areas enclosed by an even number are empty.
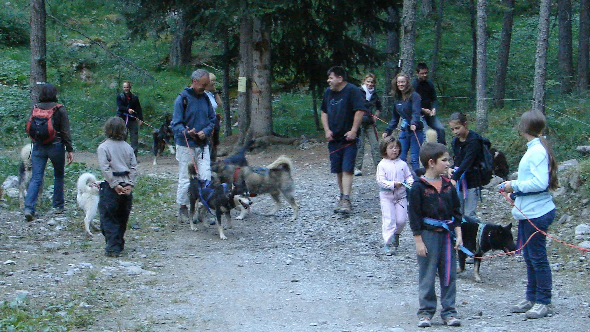
[[[424,217],[436,220],[451,220],[451,217],[454,217],[449,228],[452,230],[461,226],[461,203],[457,190],[447,178],[442,177],[440,193],[423,178],[414,178],[408,198],[409,227],[414,235],[421,235],[422,230],[437,228],[422,222]]]

